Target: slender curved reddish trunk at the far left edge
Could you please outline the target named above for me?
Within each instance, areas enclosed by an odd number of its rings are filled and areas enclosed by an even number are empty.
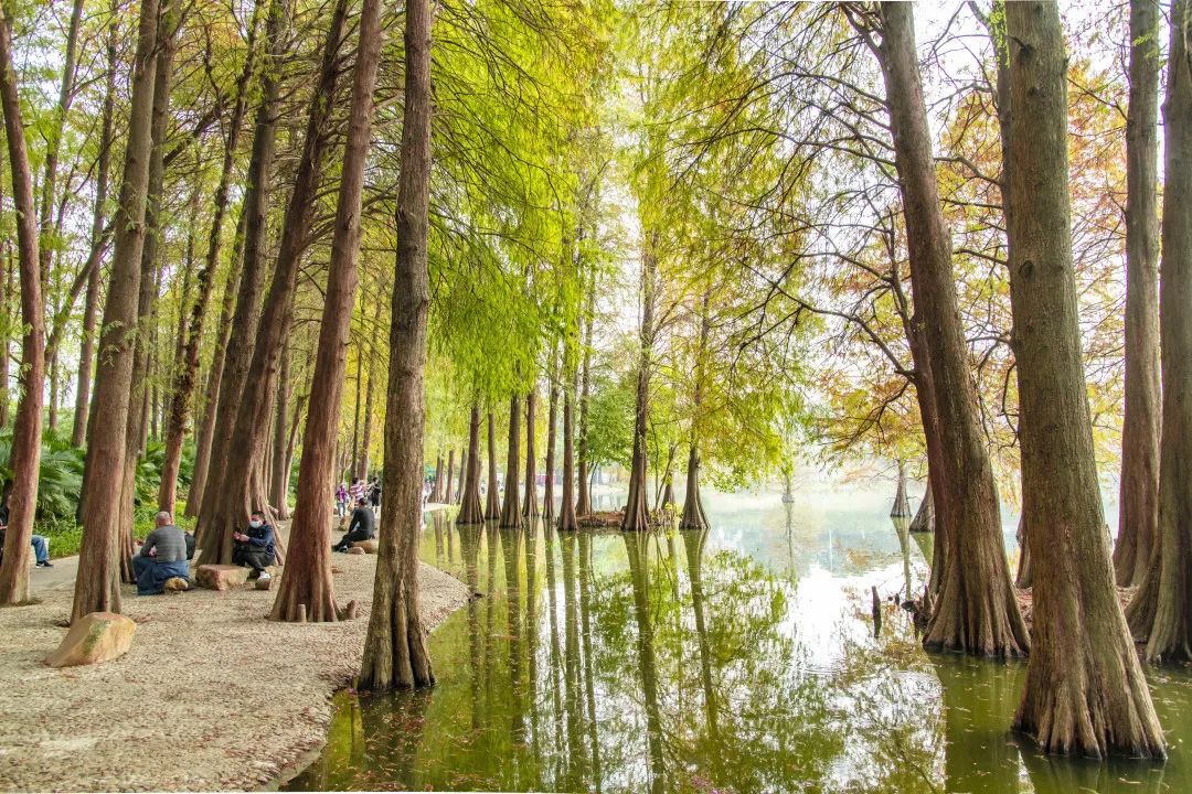
[[[12,62],[12,30],[0,7],[0,106],[8,140],[8,171],[17,211],[17,251],[20,268],[21,375],[13,429],[10,467],[8,531],[0,564],[0,605],[29,599],[30,538],[37,512],[37,484],[42,461],[42,389],[45,380],[45,319],[37,255],[37,223],[33,215],[33,179],[25,148],[17,73]]]

